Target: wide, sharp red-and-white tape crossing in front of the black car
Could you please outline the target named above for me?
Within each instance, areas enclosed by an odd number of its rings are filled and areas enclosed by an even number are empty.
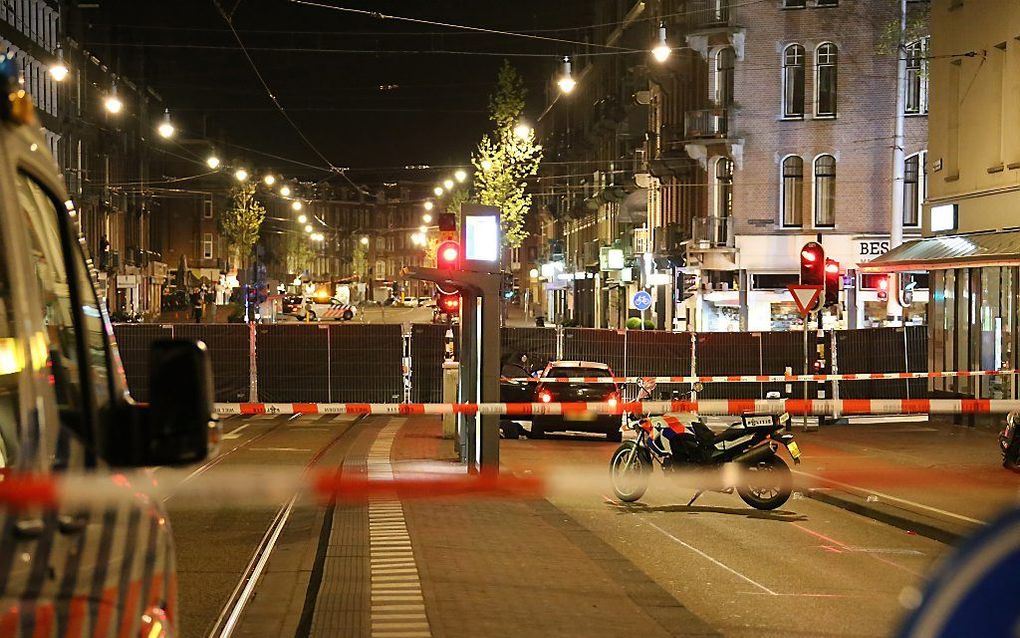
[[[220,414],[977,414],[1020,410],[1013,399],[701,399],[569,403],[216,403]]]

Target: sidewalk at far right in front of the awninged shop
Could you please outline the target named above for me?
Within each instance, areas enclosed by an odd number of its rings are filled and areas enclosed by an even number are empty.
[[[823,426],[797,433],[804,478],[833,478],[808,495],[953,543],[1020,500],[1002,468],[998,431],[938,423]]]

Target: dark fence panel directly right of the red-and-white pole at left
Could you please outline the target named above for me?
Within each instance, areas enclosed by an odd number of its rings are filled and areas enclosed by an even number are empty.
[[[260,401],[329,401],[328,329],[324,324],[276,324],[255,329]]]

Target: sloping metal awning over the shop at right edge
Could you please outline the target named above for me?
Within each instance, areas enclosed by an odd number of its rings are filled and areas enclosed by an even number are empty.
[[[858,268],[864,273],[891,273],[982,265],[1020,265],[1020,231],[918,239]]]

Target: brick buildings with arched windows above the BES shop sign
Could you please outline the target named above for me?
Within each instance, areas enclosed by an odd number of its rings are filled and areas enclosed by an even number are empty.
[[[911,2],[912,15],[926,4]],[[660,0],[596,11],[610,27],[593,42],[648,49],[663,24],[673,51],[664,63],[581,62],[577,89],[540,126],[547,159],[573,162],[543,175],[580,176],[540,188],[552,193],[542,203],[561,222],[566,254],[580,255],[556,266],[565,275],[547,265],[547,290],[566,291],[563,315],[619,326],[642,287],[662,328],[787,329],[800,323],[785,292],[800,247],[820,238],[853,275],[847,311],[826,322],[884,318],[876,280],[854,271],[888,247],[898,56],[882,39],[899,4]],[[925,47],[907,55],[907,236],[920,233],[926,187]],[[607,268],[602,253],[615,247],[624,267]],[[917,291],[909,321],[926,296]]]

